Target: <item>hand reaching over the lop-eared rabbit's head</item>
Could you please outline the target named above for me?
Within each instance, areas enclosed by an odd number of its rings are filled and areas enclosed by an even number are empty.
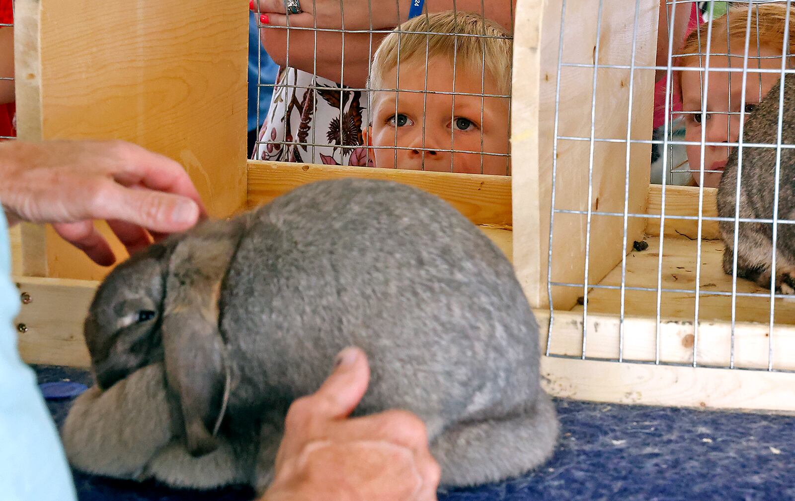
[[[52,223],[97,264],[115,256],[95,229],[106,219],[132,253],[205,214],[175,161],[124,141],[9,141],[0,145],[0,202],[9,225]]]

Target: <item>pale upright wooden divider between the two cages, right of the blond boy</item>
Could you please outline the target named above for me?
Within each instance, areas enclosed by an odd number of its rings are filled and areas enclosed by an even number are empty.
[[[597,51],[597,13],[603,6]],[[562,60],[573,64],[630,64],[634,9],[620,0],[567,2],[561,16],[561,0],[520,2],[514,39],[513,113],[511,121],[514,175],[514,263],[530,303],[549,306],[549,213],[553,191],[553,156],[556,159],[555,207],[561,210],[599,210],[622,213],[625,186],[629,186],[627,210],[645,214],[649,185],[649,145],[557,141],[559,136],[590,137],[591,102],[595,87],[594,135],[626,140],[627,124],[632,139],[651,138],[653,71],[615,68],[562,67],[560,93],[558,48]],[[637,52],[634,63],[651,65],[655,59],[658,2],[642,2],[638,14]],[[562,42],[560,26],[564,25]],[[598,52],[598,53],[597,53]],[[634,80],[630,82],[630,78]],[[630,85],[632,95],[630,96]],[[628,120],[632,103],[632,116]],[[556,115],[556,102],[559,111]],[[627,177],[627,154],[629,176]],[[592,162],[591,162],[592,159]],[[592,165],[591,199],[588,199]],[[590,206],[589,206],[590,202]],[[633,240],[646,228],[641,218],[627,224],[627,247],[622,247],[623,218],[593,216],[590,229],[584,214],[555,214],[552,276],[554,281],[584,279],[585,249],[590,235],[588,281],[598,281],[621,260]],[[555,309],[576,303],[578,291],[553,291]]]

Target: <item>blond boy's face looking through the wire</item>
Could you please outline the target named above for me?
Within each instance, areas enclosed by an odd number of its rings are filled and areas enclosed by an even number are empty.
[[[396,75],[394,69],[386,72],[385,85],[394,85]],[[454,88],[452,64],[429,60],[426,87],[425,64],[401,64],[396,87],[401,91],[373,94],[370,141],[373,146],[387,147],[374,150],[376,167],[510,173],[508,157],[504,156],[508,152],[508,98],[430,94],[432,91],[502,94],[490,82],[489,75],[482,85],[480,71],[459,68],[455,79]],[[429,94],[425,94],[426,88]],[[460,150],[476,153],[460,153]]]

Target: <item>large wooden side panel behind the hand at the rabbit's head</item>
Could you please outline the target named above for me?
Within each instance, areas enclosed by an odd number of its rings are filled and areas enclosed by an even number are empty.
[[[21,139],[133,141],[183,164],[211,214],[245,205],[242,3],[17,0],[15,21]],[[46,244],[49,276],[107,273],[52,231]]]

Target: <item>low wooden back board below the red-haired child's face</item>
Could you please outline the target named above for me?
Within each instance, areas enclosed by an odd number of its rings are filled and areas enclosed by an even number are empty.
[[[718,196],[717,188],[704,188],[701,214],[702,218],[716,218],[718,216],[718,206],[716,200]],[[698,216],[699,188],[689,186],[666,186],[665,187],[665,215],[666,216]],[[661,215],[662,212],[662,186],[659,184],[649,185],[648,212],[646,214]],[[666,237],[698,237],[697,219],[671,219],[665,218],[663,232]],[[660,236],[660,219],[646,219],[646,234],[655,237]],[[713,240],[720,238],[717,221],[701,222],[701,238]]]

